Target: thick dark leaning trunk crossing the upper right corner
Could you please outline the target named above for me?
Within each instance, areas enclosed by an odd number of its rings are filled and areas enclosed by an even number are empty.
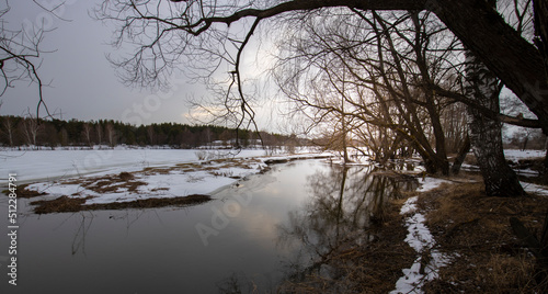
[[[488,1],[433,1],[430,10],[537,115],[548,134],[548,78],[539,50]]]

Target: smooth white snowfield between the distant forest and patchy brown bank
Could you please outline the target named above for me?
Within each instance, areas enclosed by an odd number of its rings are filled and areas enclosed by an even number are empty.
[[[205,151],[207,152],[207,151]],[[217,157],[256,157],[264,150],[210,150]],[[16,173],[19,182],[55,180],[85,174],[137,171],[146,167],[198,161],[197,150],[187,149],[95,149],[1,151],[0,174]]]

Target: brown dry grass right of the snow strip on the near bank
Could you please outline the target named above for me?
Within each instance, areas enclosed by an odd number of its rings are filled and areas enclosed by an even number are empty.
[[[541,229],[548,199],[488,197],[482,184],[444,184],[419,199],[439,250],[457,253],[426,283],[426,293],[543,293],[535,282],[535,259],[510,227],[510,217]]]

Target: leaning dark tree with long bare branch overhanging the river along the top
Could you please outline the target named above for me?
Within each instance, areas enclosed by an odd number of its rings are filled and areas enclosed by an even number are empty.
[[[183,3],[184,2],[184,3]],[[241,114],[253,117],[241,90],[241,54],[260,22],[283,20],[287,13],[346,7],[368,10],[427,10],[436,14],[488,68],[514,91],[537,115],[548,133],[548,79],[538,48],[523,38],[489,3],[476,0],[377,0],[306,1],[293,0],[270,4],[262,1],[105,1],[96,16],[118,26],[116,45],[125,41],[140,44],[130,58],[116,63],[124,68],[126,81],[155,84],[169,77],[173,67],[196,65],[198,54],[214,61],[209,72],[229,65],[228,90],[238,87]],[[458,13],[456,13],[458,12]],[[543,20],[544,9],[535,11]],[[247,21],[251,20],[251,21]],[[243,34],[235,35],[230,26],[244,24]],[[238,30],[242,31],[242,30]],[[512,44],[509,46],[507,44]],[[204,69],[204,65],[202,68]],[[225,68],[225,66],[222,66]],[[208,76],[212,77],[212,76]],[[229,93],[230,91],[227,91]],[[229,97],[227,94],[227,97]],[[241,121],[240,121],[241,122]]]

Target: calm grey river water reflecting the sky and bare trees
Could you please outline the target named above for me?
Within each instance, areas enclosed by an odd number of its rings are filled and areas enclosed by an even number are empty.
[[[281,281],[320,270],[318,255],[339,242],[366,242],[384,204],[412,185],[372,171],[294,161],[191,207],[23,213],[16,286],[0,225],[0,293],[276,292]],[[27,202],[19,200],[20,212]],[[2,196],[1,219],[7,213]]]

